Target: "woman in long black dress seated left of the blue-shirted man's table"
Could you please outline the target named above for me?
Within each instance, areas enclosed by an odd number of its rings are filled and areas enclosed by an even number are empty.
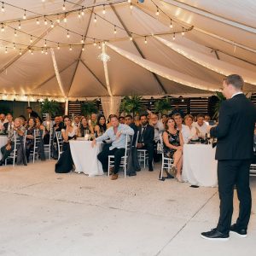
[[[64,129],[61,130],[63,138],[62,154],[58,162],[55,164],[55,172],[67,173],[73,169],[73,159],[70,151],[69,140],[77,136],[78,127],[71,125],[71,120],[66,115],[64,116]]]

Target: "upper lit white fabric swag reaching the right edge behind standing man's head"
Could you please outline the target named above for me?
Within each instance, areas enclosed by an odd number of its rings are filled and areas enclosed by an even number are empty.
[[[155,36],[162,44],[165,44],[167,47],[175,50],[180,55],[185,56],[191,61],[194,61],[197,64],[200,64],[203,67],[207,67],[214,72],[224,74],[225,76],[230,75],[231,73],[239,73],[244,81],[249,84],[256,85],[255,73],[250,70],[237,67],[236,65],[230,64],[226,61],[221,61],[216,58],[213,58],[209,55],[204,55],[201,52],[189,49],[188,47],[176,44],[174,42],[168,41],[164,38]]]

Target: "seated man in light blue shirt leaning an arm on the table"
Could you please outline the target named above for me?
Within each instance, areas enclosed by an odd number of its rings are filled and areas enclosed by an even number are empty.
[[[126,135],[133,135],[134,131],[129,125],[119,124],[119,119],[116,115],[110,118],[110,122],[111,127],[101,137],[93,140],[91,145],[94,147],[97,142],[110,139],[111,143],[108,144],[108,147],[103,148],[97,158],[102,163],[103,171],[106,172],[108,170],[108,155],[114,155],[114,169],[111,179],[115,180],[118,178],[121,158],[125,155]]]

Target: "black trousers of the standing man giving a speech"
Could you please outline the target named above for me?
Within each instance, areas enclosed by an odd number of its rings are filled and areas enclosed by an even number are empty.
[[[217,229],[222,233],[230,231],[235,185],[240,202],[236,225],[240,229],[247,229],[252,208],[252,196],[249,186],[250,165],[251,160],[218,160],[220,215]]]

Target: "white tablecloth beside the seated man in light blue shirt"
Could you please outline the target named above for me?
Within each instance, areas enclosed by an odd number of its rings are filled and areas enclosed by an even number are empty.
[[[69,144],[73,163],[76,166],[75,172],[84,172],[89,177],[104,174],[102,164],[97,160],[97,154],[102,151],[102,143],[96,143],[96,146],[92,148],[90,141],[78,138],[70,140]]]

